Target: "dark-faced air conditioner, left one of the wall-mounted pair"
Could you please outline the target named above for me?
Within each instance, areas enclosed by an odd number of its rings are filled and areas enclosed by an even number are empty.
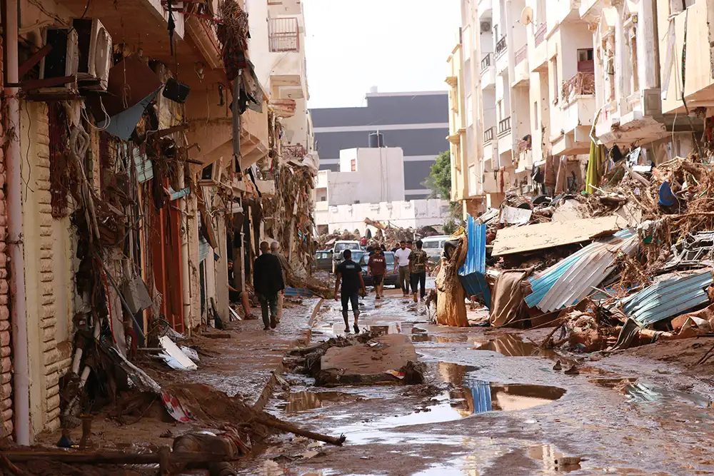
[[[79,68],[77,32],[74,28],[48,26],[42,31],[42,44],[52,46],[51,51],[40,61],[40,79],[76,76]],[[51,89],[69,89],[73,83],[65,83]]]

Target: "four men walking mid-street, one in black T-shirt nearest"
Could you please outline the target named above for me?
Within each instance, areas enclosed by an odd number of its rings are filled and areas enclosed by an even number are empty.
[[[413,247],[416,244],[416,248]],[[399,287],[402,289],[403,296],[406,298],[411,292],[414,302],[416,303],[419,295],[421,300],[426,295],[426,264],[428,256],[423,249],[421,240],[416,243],[411,241],[401,240],[398,248],[393,250],[394,271],[398,273]],[[374,247],[368,249],[369,260],[367,261],[367,273],[372,277],[372,283],[376,293],[375,299],[384,297],[384,275],[387,273],[387,260],[383,252],[383,248]],[[343,251],[343,262],[336,269],[335,279],[335,300],[338,300],[338,291],[342,301],[342,318],[345,321],[345,332],[350,333],[349,324],[349,305],[352,305],[352,313],[354,315],[354,331],[359,333],[359,293],[366,295],[367,289],[362,279],[362,267],[352,260],[352,251]]]

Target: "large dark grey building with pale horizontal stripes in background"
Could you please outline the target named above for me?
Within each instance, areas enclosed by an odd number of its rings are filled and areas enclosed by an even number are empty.
[[[367,147],[369,135],[379,132],[383,145],[404,151],[406,200],[431,193],[423,182],[436,156],[448,150],[446,91],[378,93],[366,95],[366,106],[313,108],[315,142],[322,170],[336,171],[340,151]]]

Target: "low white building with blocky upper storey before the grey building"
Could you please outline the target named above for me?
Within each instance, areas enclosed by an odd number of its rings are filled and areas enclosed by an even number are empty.
[[[404,153],[399,147],[340,151],[339,171],[319,171],[315,204],[318,233],[366,233],[365,218],[401,228],[441,226],[448,213],[442,199],[406,200]]]

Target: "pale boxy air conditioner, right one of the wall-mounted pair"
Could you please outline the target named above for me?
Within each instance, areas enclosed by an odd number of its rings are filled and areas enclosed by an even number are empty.
[[[111,36],[99,19],[74,19],[78,35],[79,69],[77,79],[89,81],[88,89],[106,91],[111,68]],[[97,83],[96,81],[99,81]]]

